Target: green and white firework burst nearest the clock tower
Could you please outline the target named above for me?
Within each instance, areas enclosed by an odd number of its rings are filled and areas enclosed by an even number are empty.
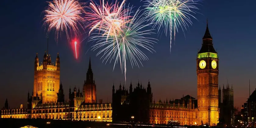
[[[167,35],[170,34],[170,52],[172,44],[172,31],[174,33],[174,40],[176,31],[178,28],[184,32],[187,30],[187,26],[192,25],[190,16],[195,18],[191,13],[195,13],[194,10],[198,9],[196,5],[200,0],[146,0],[144,6],[146,6],[145,15],[149,17],[151,23],[155,22],[153,27],[164,27],[164,32]],[[195,18],[196,19],[196,18]]]

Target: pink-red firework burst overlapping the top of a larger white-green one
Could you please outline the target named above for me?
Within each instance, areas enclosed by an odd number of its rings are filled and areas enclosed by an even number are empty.
[[[114,36],[116,32],[122,30],[121,27],[129,22],[129,9],[123,9],[125,0],[119,5],[119,2],[108,4],[102,2],[100,5],[90,2],[89,10],[86,12],[84,21],[88,22],[87,27],[92,31],[98,30],[99,33],[108,36]]]

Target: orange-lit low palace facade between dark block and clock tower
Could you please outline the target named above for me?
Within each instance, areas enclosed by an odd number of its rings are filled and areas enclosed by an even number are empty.
[[[201,120],[198,117],[197,100],[190,95],[181,99],[150,103],[149,123],[167,124],[168,121],[179,121],[180,125],[197,125]]]

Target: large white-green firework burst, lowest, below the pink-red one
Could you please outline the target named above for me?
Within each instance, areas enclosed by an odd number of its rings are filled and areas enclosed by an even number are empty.
[[[156,39],[148,37],[153,29],[147,30],[153,23],[147,23],[146,18],[139,15],[141,11],[137,10],[134,16],[125,21],[125,24],[121,26],[120,31],[114,32],[114,35],[104,34],[108,29],[97,28],[98,31],[103,31],[98,34],[94,33],[90,37],[91,41],[95,41],[96,44],[92,46],[92,50],[100,49],[97,55],[101,55],[102,62],[105,64],[109,61],[115,60],[115,64],[120,61],[121,70],[124,70],[126,81],[126,62],[129,59],[132,68],[141,64],[143,60],[148,60],[148,57],[140,50],[144,48],[150,52],[154,51],[152,44],[156,43]],[[130,16],[131,12],[127,11],[125,15]],[[115,45],[115,47],[113,47]],[[114,48],[114,49],[113,49]],[[140,63],[140,64],[139,64]],[[115,64],[113,70],[115,68]],[[143,65],[142,65],[143,66]]]

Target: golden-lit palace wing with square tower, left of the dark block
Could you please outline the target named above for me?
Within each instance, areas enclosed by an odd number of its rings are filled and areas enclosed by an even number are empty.
[[[112,122],[112,104],[102,104],[102,100],[98,104],[96,101],[96,85],[93,80],[91,59],[87,71],[87,80],[85,80],[89,82],[85,82],[83,92],[80,92],[80,88],[76,90],[76,87],[74,87],[73,92],[69,88],[68,102],[64,99],[62,83],[58,87],[56,86],[59,83],[59,55],[57,56],[56,66],[53,66],[48,59],[50,57],[47,57],[45,54],[44,65],[38,66],[39,62],[36,56],[34,80],[36,84],[34,84],[32,95],[30,93],[27,95],[27,109],[23,108],[23,105],[19,109],[9,109],[6,99],[5,106],[1,110],[1,118],[41,118]],[[91,83],[92,80],[93,83]],[[88,85],[92,88],[88,87]],[[87,89],[90,91],[87,91]],[[85,91],[93,93],[88,94]],[[44,100],[44,98],[47,100]]]

